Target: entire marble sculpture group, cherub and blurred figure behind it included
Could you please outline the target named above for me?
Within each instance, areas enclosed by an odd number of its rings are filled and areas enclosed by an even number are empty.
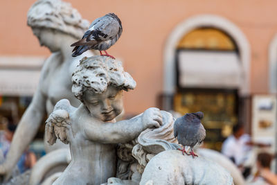
[[[26,184],[25,177],[30,176],[31,185],[233,184],[231,175],[215,162],[177,150],[181,146],[173,133],[172,114],[152,107],[129,120],[115,120],[123,111],[123,91],[134,89],[136,82],[118,60],[71,57],[70,44],[89,24],[69,3],[38,0],[28,12],[28,25],[52,55],[0,174],[10,176],[44,114],[49,115],[45,141],[51,146],[46,144],[49,153],[31,173],[12,178],[11,183]],[[49,173],[60,164],[69,165],[62,173]]]

